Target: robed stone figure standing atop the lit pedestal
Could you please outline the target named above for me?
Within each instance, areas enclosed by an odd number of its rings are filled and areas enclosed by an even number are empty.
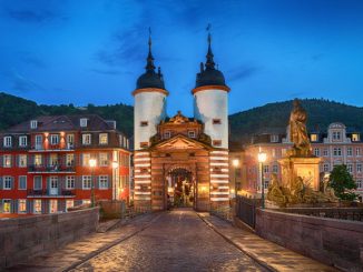
[[[290,140],[294,143],[291,155],[310,157],[312,148],[306,130],[307,113],[297,99],[290,114]]]

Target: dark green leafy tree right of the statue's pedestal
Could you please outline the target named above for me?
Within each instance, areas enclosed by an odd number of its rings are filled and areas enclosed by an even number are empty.
[[[347,171],[345,164],[335,165],[328,178],[331,188],[334,189],[334,193],[341,200],[353,201],[357,194],[350,191],[356,189],[356,184],[352,174]]]

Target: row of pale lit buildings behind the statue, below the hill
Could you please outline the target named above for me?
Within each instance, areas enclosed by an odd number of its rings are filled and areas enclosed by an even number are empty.
[[[286,133],[264,133],[254,135],[252,143],[245,144],[239,171],[245,172],[239,190],[245,193],[261,192],[257,154],[267,154],[263,165],[265,189],[268,187],[271,174],[277,174],[281,180],[278,160],[285,157],[292,147]],[[327,177],[334,165],[346,164],[347,170],[356,182],[356,193],[363,197],[363,141],[361,133],[347,129],[343,123],[331,123],[326,131],[310,133],[313,154],[322,158],[320,163],[321,179]]]

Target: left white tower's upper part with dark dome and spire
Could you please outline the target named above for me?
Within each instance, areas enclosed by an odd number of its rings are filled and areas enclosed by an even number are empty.
[[[150,138],[156,134],[157,125],[166,117],[166,97],[169,94],[165,90],[160,68],[155,72],[150,37],[148,43],[146,72],[138,78],[136,90],[133,92],[135,150],[143,150],[150,145]]]

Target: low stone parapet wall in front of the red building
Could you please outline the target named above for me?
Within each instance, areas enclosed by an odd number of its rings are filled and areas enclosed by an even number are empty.
[[[0,220],[0,270],[95,232],[99,209]]]

